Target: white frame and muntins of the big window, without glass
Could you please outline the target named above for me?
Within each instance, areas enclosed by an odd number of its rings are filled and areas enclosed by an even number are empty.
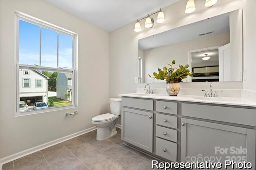
[[[45,67],[40,66],[41,65],[41,45],[40,45],[40,65],[27,65],[27,64],[19,64],[19,20],[23,20],[35,25],[39,25],[41,27],[57,31],[58,33],[62,33],[64,35],[68,35],[73,37],[72,40],[72,68],[52,68],[52,67]],[[45,113],[48,111],[55,111],[55,110],[61,110],[61,109],[69,109],[77,107],[77,100],[78,100],[78,92],[77,92],[77,42],[78,42],[78,34],[74,33],[72,31],[69,31],[67,29],[64,29],[62,27],[59,27],[57,25],[48,23],[46,21],[40,20],[38,18],[29,16],[27,14],[24,14],[22,12],[15,11],[15,36],[16,36],[16,50],[15,50],[15,56],[16,56],[16,116],[20,115],[31,115],[36,113]],[[40,28],[41,31],[41,28]],[[41,38],[40,38],[41,43]],[[58,47],[57,47],[58,50]],[[58,56],[58,55],[57,55]],[[58,61],[58,57],[57,57]],[[57,62],[58,63],[58,62]],[[46,109],[38,109],[38,110],[31,110],[26,112],[20,112],[19,109],[19,102],[20,102],[20,80],[19,80],[19,70],[20,69],[28,69],[28,70],[44,70],[44,71],[55,71],[55,72],[65,72],[65,73],[71,73],[72,74],[72,105],[67,106],[57,106],[57,107],[51,107]],[[22,82],[23,83],[23,82]],[[31,80],[30,80],[31,83]]]

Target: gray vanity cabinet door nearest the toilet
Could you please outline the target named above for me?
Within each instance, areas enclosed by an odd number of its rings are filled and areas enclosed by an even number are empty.
[[[152,152],[153,113],[122,108],[122,140]]]

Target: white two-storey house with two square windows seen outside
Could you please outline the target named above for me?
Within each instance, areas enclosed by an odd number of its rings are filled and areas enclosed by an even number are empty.
[[[48,79],[37,70],[20,69],[20,101],[48,102]]]

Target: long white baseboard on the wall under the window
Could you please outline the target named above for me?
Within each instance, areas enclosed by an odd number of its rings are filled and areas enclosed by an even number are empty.
[[[23,150],[23,151],[21,151],[21,152],[18,152],[18,153],[15,153],[15,154],[6,156],[6,157],[4,157],[4,158],[1,158],[1,159],[0,159],[0,170],[2,170],[2,165],[3,165],[3,164],[6,164],[6,163],[11,162],[11,161],[13,161],[13,160],[16,160],[16,159],[18,159],[18,158],[21,158],[21,157],[23,157],[23,156],[27,156],[27,155],[32,154],[32,153],[34,153],[34,152],[38,152],[39,150],[46,149],[46,148],[51,147],[51,146],[53,146],[53,145],[56,145],[56,144],[58,144],[58,143],[62,143],[62,142],[64,142],[64,141],[67,141],[67,140],[72,139],[72,138],[74,138],[74,137],[78,137],[78,136],[83,135],[83,134],[85,134],[85,133],[88,133],[88,132],[90,132],[90,131],[94,131],[94,130],[96,130],[96,129],[97,129],[97,127],[95,127],[95,126],[94,126],[94,127],[90,127],[90,128],[88,128],[88,129],[85,129],[85,130],[82,130],[82,131],[73,133],[73,134],[71,134],[71,135],[68,135],[68,136],[65,136],[65,137],[56,139],[56,140],[54,140],[54,141],[50,141],[50,142],[44,143],[44,144],[42,144],[42,145],[38,145],[38,146],[36,146],[36,147],[32,147],[32,148],[30,148],[30,149],[26,149],[26,150]]]

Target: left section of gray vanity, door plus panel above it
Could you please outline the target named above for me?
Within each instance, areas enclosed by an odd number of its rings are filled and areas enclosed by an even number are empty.
[[[153,152],[153,112],[141,110],[153,109],[153,101],[122,98],[122,106],[122,140]]]

